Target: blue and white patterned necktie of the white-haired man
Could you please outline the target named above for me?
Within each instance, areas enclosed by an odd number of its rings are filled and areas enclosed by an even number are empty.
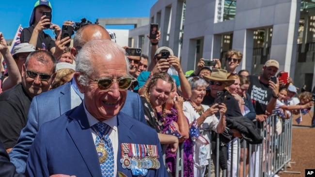
[[[104,143],[104,148],[107,150],[107,159],[105,162],[100,163],[101,171],[103,177],[113,177],[114,176],[114,151],[112,148],[112,144],[110,141],[110,136],[108,135],[110,131],[110,126],[103,123],[98,122],[93,125],[94,131],[95,129],[98,131],[96,132],[96,140],[95,140],[95,146],[98,147],[98,143]],[[105,135],[105,136],[104,136]],[[100,137],[102,137],[102,140],[100,140]]]

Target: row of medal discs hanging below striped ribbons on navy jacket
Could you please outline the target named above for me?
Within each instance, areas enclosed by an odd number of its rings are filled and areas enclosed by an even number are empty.
[[[125,157],[120,162],[123,164],[123,168],[125,166],[128,169],[135,166],[146,169],[158,169],[160,167],[160,162],[155,157],[146,157],[145,159],[128,159],[128,157]]]

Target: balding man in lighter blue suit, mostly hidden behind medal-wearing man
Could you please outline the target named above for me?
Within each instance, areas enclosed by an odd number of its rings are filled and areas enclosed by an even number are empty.
[[[74,37],[72,55],[76,56],[81,46],[93,39],[110,40],[110,35],[106,29],[96,24],[81,27]],[[79,92],[74,80],[33,98],[27,125],[21,131],[16,146],[9,153],[17,172],[24,173],[29,149],[41,125],[78,106],[82,99],[83,94]],[[145,123],[142,103],[137,93],[128,91],[125,106],[121,111]]]

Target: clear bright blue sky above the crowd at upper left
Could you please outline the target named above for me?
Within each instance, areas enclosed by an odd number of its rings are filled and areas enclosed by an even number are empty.
[[[13,39],[18,26],[29,27],[31,11],[36,0],[0,0],[0,32],[5,39]],[[80,22],[86,18],[95,22],[97,18],[149,17],[150,8],[157,0],[50,0],[52,23],[63,21]],[[131,26],[108,26],[112,29],[132,29]],[[45,32],[47,32],[45,30]],[[51,32],[47,32],[52,34]]]

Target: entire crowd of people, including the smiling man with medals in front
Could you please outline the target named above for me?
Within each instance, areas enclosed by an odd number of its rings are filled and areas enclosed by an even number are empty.
[[[67,47],[70,37],[61,39],[47,11],[48,0],[35,3],[13,54],[0,32],[0,176],[174,177],[181,143],[185,177],[248,176],[254,152],[246,145],[262,143],[255,131],[268,117],[277,116],[279,130],[282,119],[314,107],[312,93],[298,95],[290,77],[280,79],[276,59],[260,75],[236,73],[243,55],[229,50],[186,73],[171,48],[158,46],[160,31],[148,35],[150,55],[126,53],[97,24],[80,27]]]

